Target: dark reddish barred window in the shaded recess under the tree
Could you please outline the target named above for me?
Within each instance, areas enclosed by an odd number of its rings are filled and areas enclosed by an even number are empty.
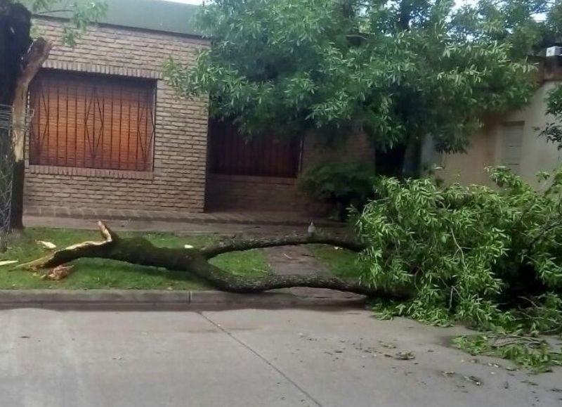
[[[301,138],[262,135],[248,139],[231,121],[209,121],[211,174],[294,178],[300,161]]]

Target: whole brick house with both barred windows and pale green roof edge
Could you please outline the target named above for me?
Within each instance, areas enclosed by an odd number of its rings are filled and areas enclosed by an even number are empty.
[[[326,148],[314,137],[246,143],[209,122],[207,98],[180,98],[164,60],[185,65],[209,45],[190,26],[194,6],[110,0],[71,49],[64,20],[38,17],[56,42],[32,86],[25,205],[180,212],[303,209],[296,176],[329,156],[371,160],[363,138]]]

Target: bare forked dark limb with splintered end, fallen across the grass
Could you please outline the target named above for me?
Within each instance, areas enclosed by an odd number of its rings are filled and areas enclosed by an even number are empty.
[[[103,235],[103,241],[72,245],[22,266],[32,269],[51,269],[83,257],[98,257],[143,266],[163,267],[174,271],[185,271],[202,278],[214,288],[227,292],[250,293],[277,288],[308,287],[328,288],[387,299],[407,299],[411,297],[411,292],[407,289],[389,291],[364,285],[358,281],[341,280],[336,277],[269,275],[261,278],[245,278],[235,276],[209,264],[209,259],[219,254],[260,247],[315,243],[337,245],[357,252],[365,249],[364,245],[352,240],[325,235],[294,235],[283,238],[231,240],[203,249],[171,249],[155,247],[143,238],[119,238],[103,222],[98,222],[98,226]]]

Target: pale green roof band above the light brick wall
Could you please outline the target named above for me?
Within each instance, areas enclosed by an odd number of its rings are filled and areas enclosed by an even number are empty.
[[[77,0],[86,4],[91,0]],[[192,4],[175,3],[163,0],[105,0],[107,13],[98,22],[141,30],[157,30],[176,34],[200,36],[193,24],[197,8]],[[41,13],[48,17],[68,18],[70,13]]]

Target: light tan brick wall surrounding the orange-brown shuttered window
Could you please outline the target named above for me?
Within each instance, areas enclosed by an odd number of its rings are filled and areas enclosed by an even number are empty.
[[[131,172],[28,165],[26,205],[115,209],[204,209],[207,163],[207,99],[178,98],[162,81],[162,64],[173,55],[189,65],[207,41],[122,27],[91,27],[76,48],[60,45],[59,20],[37,20],[55,41],[44,64],[56,70],[157,79],[154,169]],[[28,146],[27,146],[28,148]]]

